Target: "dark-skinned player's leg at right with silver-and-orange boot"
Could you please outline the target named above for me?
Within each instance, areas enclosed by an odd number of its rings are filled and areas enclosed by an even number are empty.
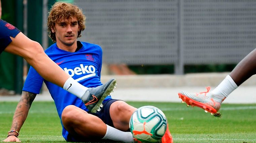
[[[216,113],[220,109],[221,103],[227,96],[239,87],[243,82],[256,74],[256,49],[251,51],[242,59],[229,75],[211,92],[207,87],[206,92],[200,93],[178,93],[179,98],[188,105],[197,106],[210,113]]]

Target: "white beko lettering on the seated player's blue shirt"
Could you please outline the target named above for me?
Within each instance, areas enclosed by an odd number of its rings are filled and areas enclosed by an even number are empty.
[[[93,65],[83,65],[80,64],[80,66],[75,67],[74,69],[68,69],[67,67],[64,68],[65,72],[67,74],[69,74],[70,77],[73,77],[74,75],[82,75],[82,74],[89,74],[89,75],[85,75],[83,77],[80,77],[78,79],[76,79],[75,81],[80,81],[89,77],[93,77],[96,76],[95,74],[95,67]]]

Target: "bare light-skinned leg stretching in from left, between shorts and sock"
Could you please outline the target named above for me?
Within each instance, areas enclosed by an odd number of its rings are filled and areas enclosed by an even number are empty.
[[[15,38],[10,38],[12,42],[5,48],[6,52],[22,56],[45,80],[64,86],[69,76],[44,53],[38,42],[29,39],[22,32]]]

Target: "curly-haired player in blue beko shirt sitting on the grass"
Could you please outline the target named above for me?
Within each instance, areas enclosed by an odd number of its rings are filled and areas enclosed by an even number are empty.
[[[76,5],[57,2],[50,10],[47,26],[50,38],[56,43],[47,48],[45,53],[82,85],[86,87],[102,85],[100,82],[101,47],[77,41],[81,30],[85,28],[85,16],[82,11]],[[62,135],[66,141],[134,142],[132,133],[129,131],[129,121],[136,108],[124,101],[107,96],[103,106],[96,113],[92,113],[76,96],[44,80],[33,67],[30,67],[21,100],[13,116],[11,131],[5,142],[20,141],[17,136],[43,82],[56,105],[63,127]],[[172,142],[169,130],[162,141],[163,143]]]

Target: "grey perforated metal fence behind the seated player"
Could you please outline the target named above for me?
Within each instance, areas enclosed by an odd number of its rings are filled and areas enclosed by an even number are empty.
[[[79,39],[105,63],[238,63],[256,47],[255,0],[74,0],[86,16]]]

